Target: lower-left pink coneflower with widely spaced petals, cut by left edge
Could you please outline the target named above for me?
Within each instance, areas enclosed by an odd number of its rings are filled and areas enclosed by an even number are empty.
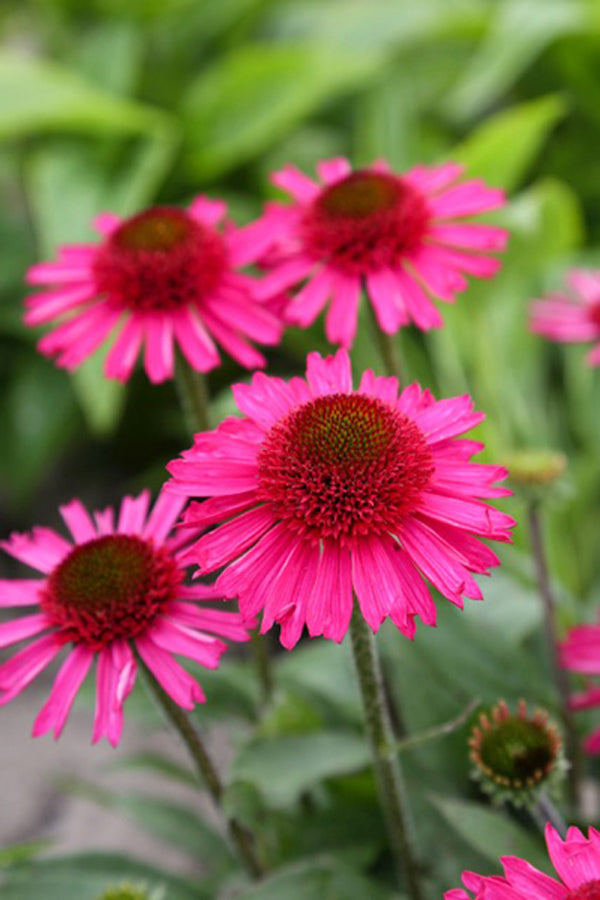
[[[33,735],[58,738],[75,696],[97,657],[93,742],[113,746],[123,727],[123,703],[136,677],[135,652],[175,703],[192,709],[202,689],[174,658],[215,669],[226,644],[248,639],[239,614],[202,608],[212,587],[183,584],[178,559],[181,534],[170,536],[183,500],[164,491],[148,515],[150,494],[125,497],[118,519],[112,509],[93,518],[79,500],[61,507],[73,542],[50,528],[13,534],[0,543],[43,578],[0,581],[0,607],[35,607],[0,624],[0,647],[34,638],[0,665],[0,705],[23,691],[68,646]],[[217,595],[222,596],[222,595]]]

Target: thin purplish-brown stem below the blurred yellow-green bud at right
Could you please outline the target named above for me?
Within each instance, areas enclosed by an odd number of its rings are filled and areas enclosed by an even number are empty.
[[[575,810],[577,810],[579,808],[580,801],[581,757],[579,751],[579,741],[577,740],[577,732],[575,729],[575,719],[573,717],[573,711],[569,704],[569,682],[567,679],[567,673],[562,668],[558,655],[556,600],[548,574],[548,563],[546,560],[546,552],[544,549],[544,540],[542,536],[539,501],[531,500],[529,502],[527,512],[529,519],[531,549],[533,552],[537,581],[544,610],[544,631],[546,633],[546,644],[550,658],[550,668],[552,671],[554,684],[560,698],[561,718],[565,729],[566,752],[571,764],[568,776],[569,793],[571,795],[571,802]]]

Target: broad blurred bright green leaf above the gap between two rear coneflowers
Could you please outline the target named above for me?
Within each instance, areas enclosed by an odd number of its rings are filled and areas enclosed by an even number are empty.
[[[205,70],[183,99],[194,173],[218,175],[255,156],[382,65],[375,53],[247,45]]]

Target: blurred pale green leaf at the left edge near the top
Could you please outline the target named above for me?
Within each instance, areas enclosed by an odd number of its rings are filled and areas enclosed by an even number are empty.
[[[0,55],[0,139],[58,130],[140,134],[166,120],[159,110],[104,92],[56,63]]]

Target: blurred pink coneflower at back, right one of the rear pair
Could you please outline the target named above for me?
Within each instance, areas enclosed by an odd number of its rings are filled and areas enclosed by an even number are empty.
[[[465,274],[490,278],[498,269],[489,254],[504,249],[507,233],[464,219],[502,206],[504,194],[479,180],[459,182],[462,166],[418,166],[400,176],[384,162],[352,171],[339,158],[317,171],[322,184],[294,166],[276,172],[273,182],[294,203],[269,204],[238,238],[271,270],[257,296],[304,282],[290,322],[310,325],[331,299],[327,337],[350,347],[364,288],[382,331],[410,321],[439,328],[431,297],[453,302],[467,287]]]

